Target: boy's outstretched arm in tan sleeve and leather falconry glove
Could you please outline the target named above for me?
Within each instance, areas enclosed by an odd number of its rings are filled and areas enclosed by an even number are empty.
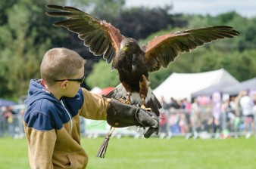
[[[144,137],[148,138],[154,132],[158,134],[159,118],[155,112],[145,112],[136,106],[110,98],[91,94],[83,89],[84,103],[80,113],[85,118],[107,120],[115,128],[140,126],[146,128]]]

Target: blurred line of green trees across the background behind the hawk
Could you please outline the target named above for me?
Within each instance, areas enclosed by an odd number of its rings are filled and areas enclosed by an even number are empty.
[[[45,3],[47,2],[47,3]],[[167,32],[201,26],[233,26],[241,32],[238,38],[204,45],[192,53],[182,54],[167,69],[151,73],[151,88],[156,88],[172,72],[205,72],[224,68],[239,81],[256,75],[256,17],[242,17],[236,12],[210,15],[170,14],[165,8],[126,8],[124,0],[2,0],[0,2],[0,97],[16,100],[27,94],[31,78],[40,78],[42,56],[49,48],[65,47],[87,60],[87,89],[106,88],[119,83],[117,72],[101,57],[90,54],[83,41],[67,29],[52,26],[61,18],[45,15],[46,4],[72,5],[106,20],[126,37],[140,44]]]

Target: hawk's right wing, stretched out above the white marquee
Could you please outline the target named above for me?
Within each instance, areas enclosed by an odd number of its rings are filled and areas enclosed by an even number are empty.
[[[239,34],[229,26],[214,26],[158,36],[149,41],[145,49],[149,72],[158,71],[161,66],[167,68],[179,53],[189,52],[205,43],[220,38],[233,38]]]

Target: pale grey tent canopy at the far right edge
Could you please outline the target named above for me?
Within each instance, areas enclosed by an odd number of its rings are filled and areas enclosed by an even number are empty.
[[[242,81],[237,85],[230,86],[229,88],[223,89],[223,94],[236,95],[239,91],[248,91],[256,89],[256,78],[251,78],[246,81]]]

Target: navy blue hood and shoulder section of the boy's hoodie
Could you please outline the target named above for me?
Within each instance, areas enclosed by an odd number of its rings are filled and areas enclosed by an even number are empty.
[[[61,97],[61,100],[58,100],[46,91],[39,79],[31,80],[25,104],[27,111],[24,121],[27,127],[39,131],[60,129],[68,121],[72,123],[71,119],[82,108],[83,91],[80,88],[75,97]]]

